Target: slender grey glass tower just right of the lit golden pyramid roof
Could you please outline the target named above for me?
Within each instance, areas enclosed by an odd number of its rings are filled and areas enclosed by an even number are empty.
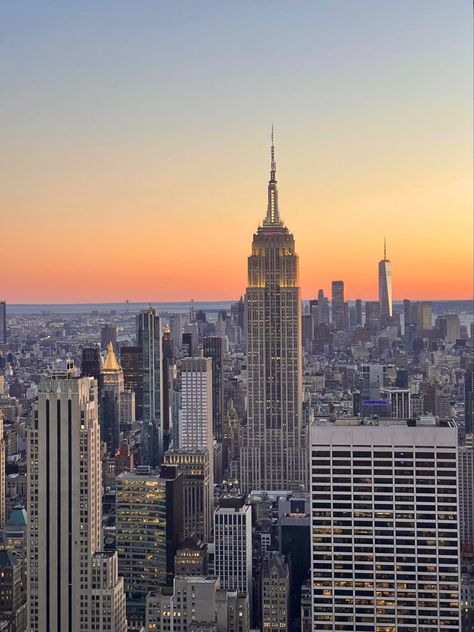
[[[162,358],[161,358],[161,321],[158,312],[150,307],[137,316],[138,346],[142,350],[143,362],[143,420],[148,422],[149,431],[155,440],[146,439],[151,446],[146,460],[149,465],[157,466],[163,455],[163,425],[161,410],[162,396]],[[151,428],[150,428],[151,426]]]

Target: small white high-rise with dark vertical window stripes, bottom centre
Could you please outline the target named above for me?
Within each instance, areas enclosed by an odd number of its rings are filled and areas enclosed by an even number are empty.
[[[224,496],[214,514],[214,572],[222,588],[247,593],[252,603],[252,508]]]

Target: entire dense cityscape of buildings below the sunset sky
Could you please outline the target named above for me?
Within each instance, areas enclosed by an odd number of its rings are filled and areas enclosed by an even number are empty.
[[[232,303],[0,303],[1,632],[474,630],[472,304],[389,239],[302,300],[273,135],[250,237]]]

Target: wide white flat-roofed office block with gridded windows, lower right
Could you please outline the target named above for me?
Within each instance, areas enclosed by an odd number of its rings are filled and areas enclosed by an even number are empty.
[[[313,630],[460,629],[456,428],[313,424]]]

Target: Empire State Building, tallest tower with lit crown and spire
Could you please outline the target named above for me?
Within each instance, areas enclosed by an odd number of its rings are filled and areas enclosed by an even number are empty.
[[[302,431],[301,298],[293,235],[280,219],[275,150],[268,208],[248,259],[248,415],[242,490],[298,489],[306,483]]]

